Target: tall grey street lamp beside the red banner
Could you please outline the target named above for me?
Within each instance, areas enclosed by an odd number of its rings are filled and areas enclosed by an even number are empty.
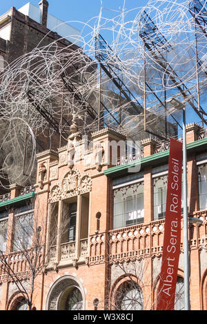
[[[189,254],[188,254],[188,183],[187,183],[187,149],[186,149],[186,107],[175,98],[166,100],[166,103],[177,110],[183,111],[183,192],[184,192],[184,298],[185,310],[190,310],[189,289]]]

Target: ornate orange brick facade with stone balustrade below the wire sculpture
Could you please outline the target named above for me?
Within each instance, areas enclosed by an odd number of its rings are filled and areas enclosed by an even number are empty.
[[[32,307],[153,310],[164,238],[168,143],[145,139],[139,156],[121,158],[119,147],[126,141],[121,133],[110,128],[92,133],[88,147],[75,131],[69,140],[75,146],[74,156],[70,145],[39,153],[34,187],[12,185],[10,196],[0,203],[0,225],[7,222],[8,233],[19,215],[27,217],[30,212],[34,221],[38,219],[34,227],[44,232],[39,258],[45,261],[34,281]],[[202,220],[188,227],[191,310],[207,309],[206,135],[195,123],[187,126],[188,216]],[[34,206],[21,212],[34,197]],[[184,308],[182,228],[181,223],[176,310]],[[1,245],[12,273],[29,291],[30,266],[23,252],[14,250],[10,235],[1,235]],[[32,241],[28,248],[32,249]],[[3,264],[0,301],[1,310],[27,307]]]

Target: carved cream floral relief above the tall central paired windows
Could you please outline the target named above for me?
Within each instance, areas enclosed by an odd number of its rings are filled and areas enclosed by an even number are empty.
[[[70,170],[63,177],[62,188],[57,183],[50,191],[50,203],[90,192],[92,180],[88,174],[81,176],[78,170]]]

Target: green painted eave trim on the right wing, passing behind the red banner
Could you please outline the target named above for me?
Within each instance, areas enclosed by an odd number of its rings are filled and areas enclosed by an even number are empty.
[[[207,138],[206,139],[199,139],[198,141],[188,143],[187,144],[187,150],[189,150],[190,148],[197,148],[198,146],[204,145],[204,144],[207,144]],[[157,153],[157,154],[152,154],[150,156],[143,157],[143,158],[141,158],[139,160],[136,160],[136,161],[132,161],[132,162],[122,164],[122,165],[117,165],[117,166],[112,167],[110,169],[104,170],[103,174],[105,174],[107,176],[108,174],[112,174],[112,173],[115,173],[115,172],[118,172],[118,171],[121,171],[121,170],[131,168],[131,167],[133,167],[133,166],[135,166],[137,164],[144,164],[144,163],[149,162],[149,161],[157,160],[157,159],[160,159],[160,158],[162,158],[164,156],[168,156],[169,152],[170,152],[169,150],[166,150],[164,152],[160,152],[160,153]]]

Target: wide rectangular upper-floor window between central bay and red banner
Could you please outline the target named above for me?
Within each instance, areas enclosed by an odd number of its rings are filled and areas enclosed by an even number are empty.
[[[114,229],[143,222],[144,183],[140,182],[114,190]]]

